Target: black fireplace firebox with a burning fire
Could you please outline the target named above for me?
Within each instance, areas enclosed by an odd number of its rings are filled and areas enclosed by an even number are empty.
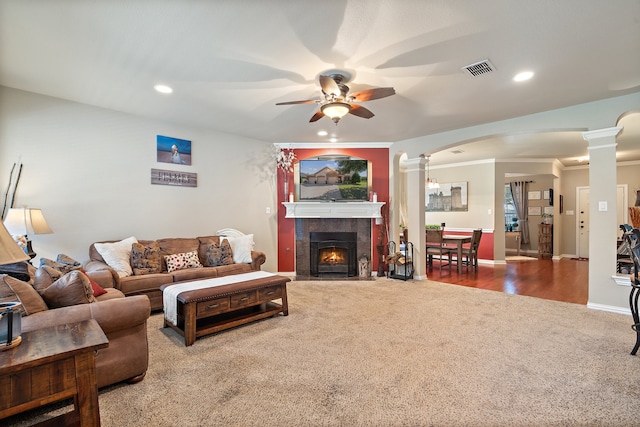
[[[357,239],[353,232],[312,232],[309,234],[311,276],[357,275]]]

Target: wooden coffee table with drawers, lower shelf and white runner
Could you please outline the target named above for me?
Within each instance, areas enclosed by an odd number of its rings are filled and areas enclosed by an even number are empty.
[[[228,276],[230,277],[230,276]],[[287,282],[291,279],[271,275],[254,280],[242,280],[227,285],[207,287],[185,291],[177,296],[177,322],[167,319],[164,326],[171,327],[184,336],[186,346],[192,345],[196,338],[244,325],[282,313],[289,314],[287,303]],[[211,279],[208,279],[211,280]],[[195,283],[200,281],[190,281]],[[163,285],[165,292],[170,286]],[[281,304],[274,302],[281,300]]]

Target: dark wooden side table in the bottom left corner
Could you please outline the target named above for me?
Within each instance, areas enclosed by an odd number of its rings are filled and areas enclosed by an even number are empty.
[[[0,352],[0,419],[73,397],[74,411],[50,425],[99,426],[95,352],[109,341],[98,322],[68,323],[21,336],[20,345]]]

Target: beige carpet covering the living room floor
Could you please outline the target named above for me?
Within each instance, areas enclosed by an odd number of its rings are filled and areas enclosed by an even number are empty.
[[[152,315],[147,377],[101,390],[102,425],[640,425],[630,316],[390,279],[292,282],[289,301],[188,348]]]

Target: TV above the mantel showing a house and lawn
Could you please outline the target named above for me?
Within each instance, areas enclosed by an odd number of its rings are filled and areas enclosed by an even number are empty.
[[[371,188],[368,160],[323,155],[299,161],[299,200],[366,201]]]

